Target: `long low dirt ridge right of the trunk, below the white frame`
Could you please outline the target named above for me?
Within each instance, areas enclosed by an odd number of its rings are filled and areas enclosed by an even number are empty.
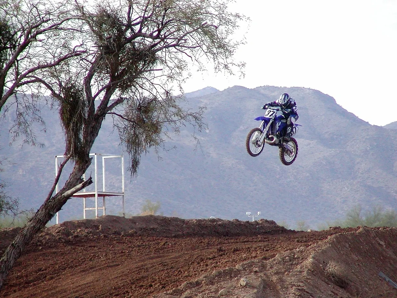
[[[81,234],[121,234],[145,236],[254,236],[258,234],[279,234],[287,231],[275,221],[228,221],[224,219],[180,219],[158,215],[135,216],[129,219],[106,215],[98,219],[67,221],[50,227],[48,232],[60,231]],[[64,232],[62,232],[64,233]]]

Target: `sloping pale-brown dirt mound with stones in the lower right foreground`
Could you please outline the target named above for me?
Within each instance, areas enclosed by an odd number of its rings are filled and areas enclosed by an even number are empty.
[[[308,248],[254,259],[204,274],[156,298],[174,297],[322,297],[395,298],[397,229],[361,227],[336,234]]]

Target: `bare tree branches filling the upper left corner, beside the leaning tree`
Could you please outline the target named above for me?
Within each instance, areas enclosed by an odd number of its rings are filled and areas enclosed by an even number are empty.
[[[79,31],[78,14],[64,0],[0,1],[0,112],[15,105],[11,132],[23,134],[26,143],[35,145],[30,124],[44,125],[36,105],[44,90],[32,75],[84,53],[70,42]]]

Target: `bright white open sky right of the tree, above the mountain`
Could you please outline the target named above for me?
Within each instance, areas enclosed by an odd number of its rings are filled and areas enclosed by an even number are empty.
[[[308,87],[370,124],[397,121],[397,0],[236,0],[231,11],[251,18],[236,55],[245,78],[193,74],[185,92]]]

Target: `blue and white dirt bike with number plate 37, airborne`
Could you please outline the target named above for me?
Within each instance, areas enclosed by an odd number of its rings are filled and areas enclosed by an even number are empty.
[[[255,118],[255,120],[262,122],[258,128],[253,128],[248,133],[245,146],[249,155],[254,157],[262,153],[265,143],[278,146],[281,163],[289,166],[298,155],[298,143],[293,135],[297,133],[301,124],[292,123],[291,126],[287,126],[284,117],[282,115],[277,116],[278,111],[281,111],[281,108],[268,106],[264,116]],[[285,136],[283,136],[282,132],[285,130],[285,126],[287,128]]]

